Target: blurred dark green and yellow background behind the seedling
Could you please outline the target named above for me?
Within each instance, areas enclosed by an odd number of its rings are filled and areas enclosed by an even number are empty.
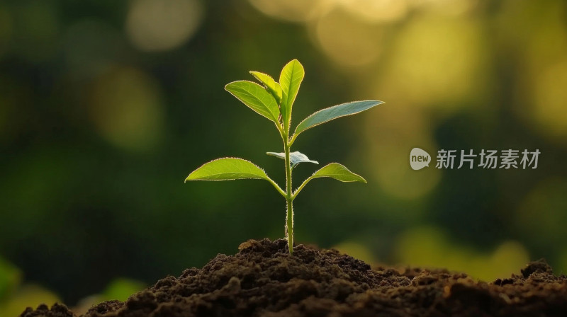
[[[295,124],[386,101],[294,144],[368,180],[310,183],[298,243],[485,280],[541,257],[567,270],[566,1],[2,1],[0,315],[125,299],[282,238],[268,183],[183,180],[237,156],[282,183],[264,154],[281,151],[276,129],[223,86],[293,58]],[[537,169],[412,171],[415,146],[541,155]]]

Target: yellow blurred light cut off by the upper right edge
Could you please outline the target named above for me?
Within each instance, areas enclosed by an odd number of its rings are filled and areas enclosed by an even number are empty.
[[[565,1],[549,1],[539,6],[530,1],[505,1],[498,23],[510,50],[518,52],[515,113],[527,127],[551,142],[565,144],[563,106],[567,80],[567,28]],[[537,14],[534,14],[537,12]],[[522,25],[522,32],[512,25]]]

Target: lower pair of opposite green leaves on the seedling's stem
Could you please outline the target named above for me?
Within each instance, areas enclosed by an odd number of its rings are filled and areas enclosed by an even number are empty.
[[[340,180],[342,182],[362,182],[366,183],[366,180],[360,175],[352,173],[348,168],[342,166],[339,163],[330,163],[326,166],[320,168],[311,175],[305,182],[303,186],[308,183],[308,181],[313,178],[335,178],[335,180]],[[193,171],[185,181],[187,180],[240,180],[240,179],[263,179],[268,180],[272,185],[277,186],[271,178],[266,175],[266,172],[254,165],[250,161],[237,158],[224,158],[216,159],[205,163],[200,168]],[[279,187],[276,187],[279,189]],[[283,192],[279,189],[279,192]]]

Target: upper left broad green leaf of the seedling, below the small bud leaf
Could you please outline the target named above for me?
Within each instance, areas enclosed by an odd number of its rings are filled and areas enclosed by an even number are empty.
[[[264,87],[252,81],[232,81],[232,83],[228,83],[225,86],[225,89],[250,109],[277,124],[279,117],[278,104],[274,96],[271,96]]]

